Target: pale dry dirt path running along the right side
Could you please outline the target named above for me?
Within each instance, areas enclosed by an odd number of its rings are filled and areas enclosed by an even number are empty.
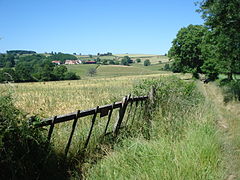
[[[221,89],[213,83],[198,83],[205,97],[214,105],[217,124],[222,132],[227,180],[240,179],[240,103],[224,103]]]

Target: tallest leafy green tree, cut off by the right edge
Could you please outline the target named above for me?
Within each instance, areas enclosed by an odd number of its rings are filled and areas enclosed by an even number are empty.
[[[211,30],[217,64],[229,79],[240,72],[240,0],[203,0],[200,12]]]

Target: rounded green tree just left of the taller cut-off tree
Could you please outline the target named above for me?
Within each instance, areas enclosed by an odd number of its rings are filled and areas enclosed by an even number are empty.
[[[189,25],[181,28],[172,42],[168,52],[173,60],[172,70],[174,72],[201,72],[204,58],[201,47],[207,29],[201,25]]]

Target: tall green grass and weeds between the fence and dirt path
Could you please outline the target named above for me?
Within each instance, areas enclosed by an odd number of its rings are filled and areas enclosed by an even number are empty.
[[[88,171],[87,179],[223,179],[220,133],[212,104],[194,83],[146,80],[135,93],[156,88],[150,140],[139,134]]]

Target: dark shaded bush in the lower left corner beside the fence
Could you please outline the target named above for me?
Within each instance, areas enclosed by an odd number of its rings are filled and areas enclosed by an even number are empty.
[[[0,96],[0,179],[61,177],[50,149],[43,129],[30,126],[10,96]]]

